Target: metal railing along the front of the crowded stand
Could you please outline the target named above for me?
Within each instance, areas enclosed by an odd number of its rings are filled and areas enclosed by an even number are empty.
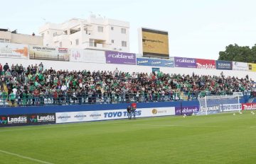
[[[28,95],[25,97],[19,97],[11,100],[11,98],[3,98],[0,95],[0,106],[4,107],[16,107],[16,106],[40,106],[40,105],[82,105],[82,104],[109,104],[109,103],[124,103],[124,102],[166,102],[166,101],[180,101],[180,100],[197,100],[206,95],[233,95],[233,93],[168,93],[168,94],[80,94],[80,95]],[[243,93],[243,95],[255,95],[250,92]]]

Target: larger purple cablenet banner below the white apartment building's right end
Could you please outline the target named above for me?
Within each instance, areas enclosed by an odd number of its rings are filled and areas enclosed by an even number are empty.
[[[136,64],[136,54],[105,51],[107,64]]]

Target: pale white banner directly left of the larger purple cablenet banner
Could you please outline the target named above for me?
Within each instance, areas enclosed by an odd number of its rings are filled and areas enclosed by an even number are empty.
[[[105,64],[105,52],[89,49],[70,49],[70,61]]]

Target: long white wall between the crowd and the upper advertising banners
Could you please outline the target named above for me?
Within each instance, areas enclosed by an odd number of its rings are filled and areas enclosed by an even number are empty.
[[[151,72],[152,67],[157,66],[137,66],[137,65],[124,65],[124,64],[96,64],[96,63],[82,63],[82,62],[72,62],[72,61],[46,61],[41,60],[46,69],[68,69],[72,70],[83,70],[87,69],[90,71],[114,71],[114,69],[119,69],[119,71],[124,72]],[[23,66],[28,66],[30,64],[40,64],[40,60],[30,60],[30,59],[8,59],[0,58],[0,63],[5,64],[6,62],[11,66],[11,64],[23,64]],[[220,76],[223,71],[224,76],[235,76],[238,78],[245,78],[246,75],[252,80],[256,81],[256,72],[253,71],[233,71],[233,70],[217,70],[217,69],[188,69],[188,68],[169,68],[169,67],[157,67],[160,71],[165,74],[189,74],[192,75],[193,72],[198,75],[216,75]]]

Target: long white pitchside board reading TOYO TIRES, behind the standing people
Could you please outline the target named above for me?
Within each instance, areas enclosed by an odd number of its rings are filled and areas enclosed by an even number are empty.
[[[141,108],[135,111],[136,117],[156,117],[175,115],[175,107]],[[126,119],[127,110],[98,110],[84,112],[57,112],[56,123],[89,122],[108,119]]]

